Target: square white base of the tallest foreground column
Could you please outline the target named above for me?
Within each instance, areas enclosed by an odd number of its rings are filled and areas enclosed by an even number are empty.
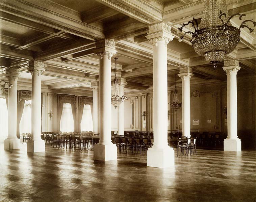
[[[148,148],[147,166],[156,168],[167,168],[174,166],[174,150],[166,148]]]

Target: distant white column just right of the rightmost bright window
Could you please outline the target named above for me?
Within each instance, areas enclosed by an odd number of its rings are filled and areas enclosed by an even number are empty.
[[[93,89],[93,132],[99,133],[99,82],[92,82],[91,89]]]

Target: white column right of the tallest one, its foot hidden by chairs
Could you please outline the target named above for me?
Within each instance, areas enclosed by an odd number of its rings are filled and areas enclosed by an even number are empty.
[[[190,67],[182,67],[178,75],[182,81],[182,136],[190,138],[190,78],[194,74]]]

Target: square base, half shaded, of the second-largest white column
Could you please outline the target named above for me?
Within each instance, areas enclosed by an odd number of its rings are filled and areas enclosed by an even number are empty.
[[[116,144],[96,144],[93,148],[93,159],[98,161],[117,160]]]

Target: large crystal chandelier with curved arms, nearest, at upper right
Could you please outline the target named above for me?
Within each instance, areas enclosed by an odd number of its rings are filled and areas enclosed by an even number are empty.
[[[231,25],[230,20],[234,16],[239,15],[239,20],[243,21],[239,28]],[[195,52],[204,56],[208,62],[213,63],[213,68],[216,69],[216,63],[223,60],[224,56],[231,53],[239,42],[241,28],[251,29],[247,22],[252,22],[254,27],[256,22],[253,20],[245,20],[246,14],[236,13],[228,16],[228,9],[225,0],[205,0],[203,17],[201,24],[195,18],[182,27],[178,28],[177,33],[182,32],[184,26],[193,27],[194,32],[187,31],[184,33],[192,34],[190,45],[195,49]],[[184,35],[179,39],[182,41]]]

